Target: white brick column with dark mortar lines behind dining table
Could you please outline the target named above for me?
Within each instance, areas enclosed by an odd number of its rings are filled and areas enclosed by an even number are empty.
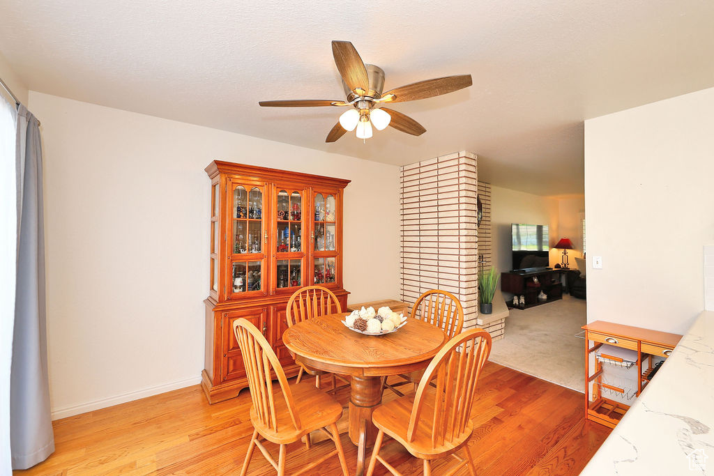
[[[456,295],[476,327],[476,155],[451,153],[401,167],[401,299],[431,289]]]

